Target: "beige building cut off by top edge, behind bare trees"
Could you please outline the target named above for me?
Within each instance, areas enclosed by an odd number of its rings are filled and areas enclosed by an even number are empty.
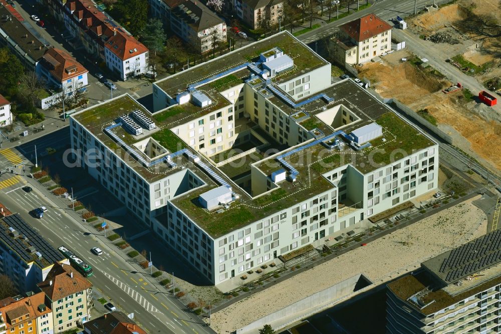
[[[279,24],[284,10],[283,0],[234,0],[233,12],[251,29],[262,27],[263,21],[270,26]]]

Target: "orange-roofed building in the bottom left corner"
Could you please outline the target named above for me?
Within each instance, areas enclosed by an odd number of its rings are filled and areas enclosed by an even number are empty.
[[[52,309],[46,305],[43,292],[28,292],[24,296],[0,300],[0,317],[1,323],[5,324],[6,333],[9,334],[54,333]]]

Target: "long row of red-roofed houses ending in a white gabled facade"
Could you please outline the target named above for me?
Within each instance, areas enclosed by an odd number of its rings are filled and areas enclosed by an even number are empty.
[[[95,61],[106,66],[120,80],[148,70],[148,49],[90,0],[44,0],[50,13],[68,30]]]

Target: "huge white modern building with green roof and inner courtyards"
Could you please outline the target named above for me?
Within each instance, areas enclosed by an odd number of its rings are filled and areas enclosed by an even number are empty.
[[[71,117],[76,157],[218,284],[437,187],[438,145],[288,32]]]

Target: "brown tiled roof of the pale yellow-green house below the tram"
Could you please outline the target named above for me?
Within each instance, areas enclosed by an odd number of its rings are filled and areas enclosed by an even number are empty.
[[[73,277],[71,277],[71,273],[73,273]],[[70,265],[61,263],[55,263],[45,281],[37,285],[52,301],[92,287],[91,282],[85,279],[82,274]]]

